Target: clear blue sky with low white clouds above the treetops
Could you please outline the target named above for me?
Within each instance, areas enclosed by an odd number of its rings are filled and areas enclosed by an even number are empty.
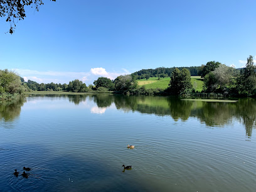
[[[242,67],[256,55],[256,1],[44,0],[13,35],[0,18],[0,69],[38,83],[93,83],[142,68]],[[256,58],[255,58],[256,60]]]

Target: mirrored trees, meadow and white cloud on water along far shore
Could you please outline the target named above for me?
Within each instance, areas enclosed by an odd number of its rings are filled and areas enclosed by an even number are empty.
[[[97,104],[97,106],[88,106],[93,114],[104,114],[111,105],[114,105],[117,110],[124,112],[168,115],[176,121],[179,119],[186,121],[189,117],[195,117],[209,127],[232,124],[235,118],[245,125],[248,137],[252,136],[252,129],[256,125],[256,99],[252,98],[239,99],[237,103],[228,103],[180,100],[176,97],[127,97],[109,94],[38,95],[35,97],[51,97],[53,100],[67,98],[75,105],[91,101]],[[0,118],[5,122],[13,121],[19,117],[24,102],[26,100],[1,102]]]

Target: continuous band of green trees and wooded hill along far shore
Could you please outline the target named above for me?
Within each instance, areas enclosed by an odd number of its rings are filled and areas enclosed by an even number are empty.
[[[120,75],[115,80],[99,77],[94,85],[86,85],[76,79],[68,84],[37,83],[24,79],[8,70],[0,70],[0,99],[12,99],[29,91],[65,91],[65,92],[114,92],[126,95],[200,95],[195,93],[191,84],[191,74],[203,78],[201,93],[216,93],[219,96],[252,97],[256,95],[256,68],[253,57],[247,58],[245,68],[227,67],[218,61],[209,61],[201,67],[156,68],[140,70],[131,75]],[[137,86],[137,80],[150,77],[170,77],[168,88],[149,88]]]

